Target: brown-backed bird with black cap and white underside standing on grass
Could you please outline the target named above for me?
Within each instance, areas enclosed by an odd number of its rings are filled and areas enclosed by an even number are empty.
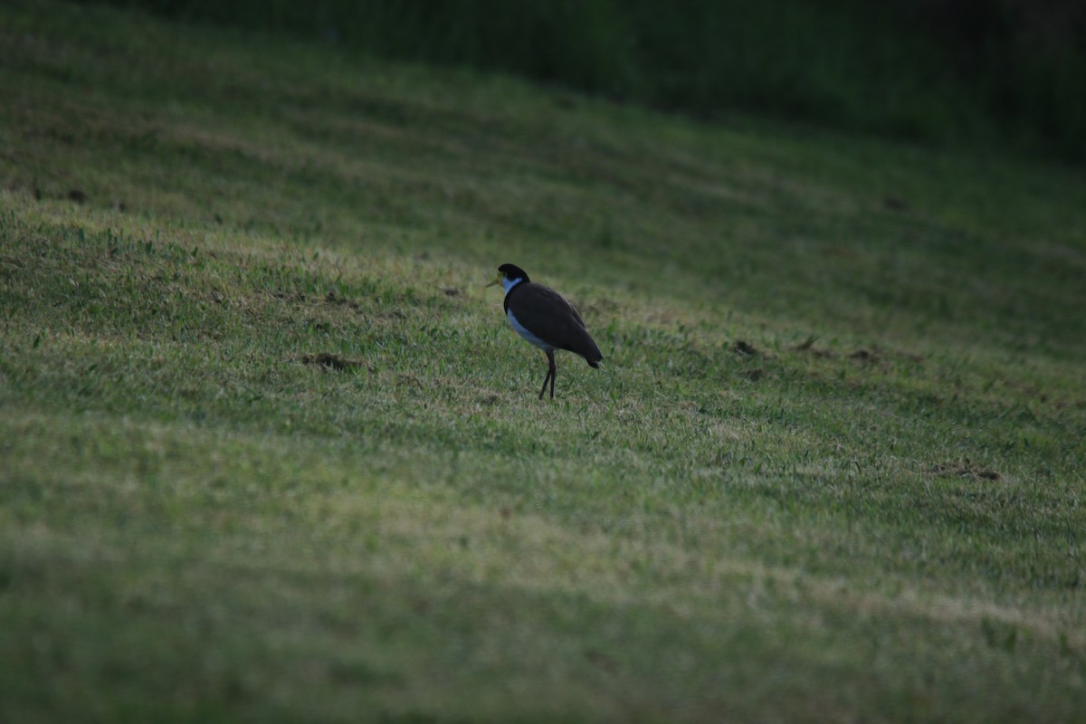
[[[497,267],[497,277],[487,285],[496,284],[505,290],[503,306],[509,325],[517,334],[546,354],[547,372],[543,378],[540,399],[543,399],[547,382],[551,383],[551,399],[554,399],[555,350],[581,355],[589,367],[598,369],[604,358],[599,347],[589,334],[581,315],[561,294],[550,287],[536,284],[515,264]]]

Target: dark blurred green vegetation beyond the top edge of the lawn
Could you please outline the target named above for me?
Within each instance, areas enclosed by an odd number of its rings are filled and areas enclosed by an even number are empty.
[[[1075,0],[112,2],[697,116],[1086,158],[1086,3]]]

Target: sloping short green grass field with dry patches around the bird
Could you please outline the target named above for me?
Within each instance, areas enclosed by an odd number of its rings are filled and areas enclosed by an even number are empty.
[[[1081,168],[52,0],[0,99],[0,721],[1081,721]]]

